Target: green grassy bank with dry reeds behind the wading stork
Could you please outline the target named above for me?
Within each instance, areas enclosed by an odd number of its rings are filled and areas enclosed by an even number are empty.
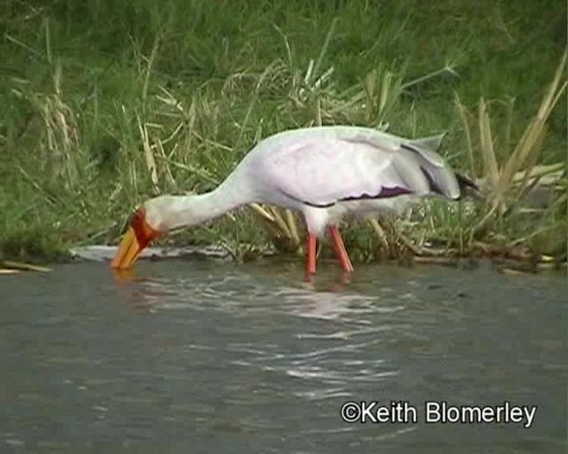
[[[114,244],[140,201],[208,191],[261,137],[320,123],[446,132],[441,153],[487,183],[485,202],[429,204],[383,223],[384,238],[378,224],[353,224],[354,259],[423,255],[428,240],[455,254],[501,247],[564,258],[565,175],[537,206],[513,189],[517,171],[565,164],[565,69],[552,95],[559,105],[541,112],[546,130],[524,136],[564,52],[560,1],[7,0],[3,8],[0,258]],[[523,145],[526,137],[533,142]],[[505,166],[511,156],[518,165]],[[534,182],[524,175],[521,188]],[[297,251],[295,235],[264,217],[244,208],[162,241],[221,240],[238,258],[254,252],[250,244]]]

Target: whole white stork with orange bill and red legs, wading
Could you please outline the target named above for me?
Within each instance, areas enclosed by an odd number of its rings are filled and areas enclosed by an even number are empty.
[[[133,216],[112,266],[130,268],[141,250],[162,233],[256,202],[304,215],[308,275],[315,273],[316,239],[326,229],[342,269],[351,271],[336,226],[343,215],[400,214],[417,198],[458,200],[468,186],[477,189],[435,153],[441,139],[406,139],[353,126],[291,129],[267,137],[215,190],[146,200]]]

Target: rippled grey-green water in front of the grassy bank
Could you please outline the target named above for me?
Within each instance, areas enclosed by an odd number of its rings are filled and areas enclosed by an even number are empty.
[[[0,277],[0,452],[563,452],[565,278],[139,262]],[[348,401],[417,421],[349,424]],[[533,425],[425,403],[536,405]],[[526,421],[525,421],[526,422]]]

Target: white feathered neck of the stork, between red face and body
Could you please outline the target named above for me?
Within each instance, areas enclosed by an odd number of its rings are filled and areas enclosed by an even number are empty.
[[[255,201],[247,181],[229,176],[211,192],[199,195],[173,196],[163,221],[168,230],[204,223],[233,208]]]

